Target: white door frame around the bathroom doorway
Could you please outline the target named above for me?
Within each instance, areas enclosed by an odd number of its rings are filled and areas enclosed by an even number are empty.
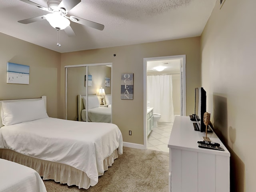
[[[186,116],[186,55],[143,58],[143,127],[144,149],[148,148],[147,132],[147,62],[156,60],[180,59],[180,115]]]

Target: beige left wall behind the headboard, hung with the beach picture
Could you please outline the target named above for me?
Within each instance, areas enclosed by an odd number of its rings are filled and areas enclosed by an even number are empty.
[[[30,66],[30,82],[6,83],[7,62]],[[47,112],[58,117],[60,53],[0,33],[0,100],[47,96]]]

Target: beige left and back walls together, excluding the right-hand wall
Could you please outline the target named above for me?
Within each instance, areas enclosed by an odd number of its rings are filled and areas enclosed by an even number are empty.
[[[65,118],[64,66],[112,62],[112,122],[119,126],[125,142],[143,144],[143,58],[186,54],[187,114],[194,111],[194,88],[201,83],[200,37],[64,54],[1,33],[0,40],[0,100],[46,95],[48,115]],[[7,62],[30,66],[30,84],[7,84]],[[134,73],[133,100],[120,99],[122,73]]]

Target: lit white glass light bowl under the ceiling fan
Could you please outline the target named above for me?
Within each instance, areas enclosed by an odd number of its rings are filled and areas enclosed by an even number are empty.
[[[49,13],[45,16],[45,18],[50,25],[56,29],[62,30],[70,25],[70,21],[60,12]]]

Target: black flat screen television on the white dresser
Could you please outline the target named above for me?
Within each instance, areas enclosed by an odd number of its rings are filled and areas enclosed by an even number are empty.
[[[196,118],[196,123],[201,132],[205,132],[204,113],[206,112],[206,91],[204,88],[195,88],[195,114],[200,118]]]

